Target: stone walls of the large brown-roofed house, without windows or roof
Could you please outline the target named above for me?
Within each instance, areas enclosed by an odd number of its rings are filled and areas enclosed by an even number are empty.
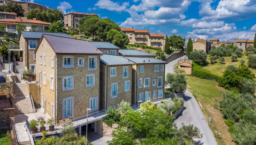
[[[42,48],[43,45],[43,48]],[[90,98],[96,97],[96,108],[91,110],[90,113],[99,110],[99,54],[68,54],[73,57],[73,67],[62,68],[62,56],[67,54],[55,54],[49,43],[43,38],[39,43],[39,48],[36,52],[36,79],[40,80],[41,93],[43,100],[46,101],[46,107],[43,103],[43,108],[46,112],[55,119],[61,120],[64,118],[76,118],[86,115],[87,108],[90,108]],[[44,63],[40,64],[40,56],[45,56]],[[96,70],[88,70],[88,57],[96,56]],[[78,67],[78,57],[84,57],[84,67]],[[54,67],[51,67],[51,59],[53,58]],[[41,74],[41,75],[40,75]],[[43,82],[43,74],[46,76],[46,83]],[[95,82],[94,86],[86,87],[86,74],[94,74]],[[63,89],[63,77],[73,76],[73,87],[70,90]],[[53,78],[53,86],[50,86],[50,77]],[[67,98],[71,99],[71,111],[72,115],[64,116],[63,114],[63,101]],[[41,103],[42,104],[42,103]],[[56,110],[54,113],[51,106]]]

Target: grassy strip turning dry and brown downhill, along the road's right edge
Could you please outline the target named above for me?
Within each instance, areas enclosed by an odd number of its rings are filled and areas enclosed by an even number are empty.
[[[221,114],[218,104],[225,90],[218,86],[218,82],[200,79],[197,77],[186,76],[188,90],[195,96],[199,103],[207,121],[211,117],[211,122],[208,122],[212,129],[215,139],[219,145],[233,145],[228,127],[225,124],[225,119]],[[218,135],[220,133],[220,135]]]

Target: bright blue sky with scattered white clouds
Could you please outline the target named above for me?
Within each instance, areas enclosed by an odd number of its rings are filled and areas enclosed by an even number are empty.
[[[33,0],[32,0],[33,2]],[[256,0],[34,0],[64,13],[90,12],[120,27],[191,38],[254,39]]]

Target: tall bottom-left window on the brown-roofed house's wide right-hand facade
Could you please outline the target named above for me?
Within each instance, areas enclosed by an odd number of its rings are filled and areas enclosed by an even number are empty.
[[[63,98],[63,117],[73,117],[74,115],[74,97]]]

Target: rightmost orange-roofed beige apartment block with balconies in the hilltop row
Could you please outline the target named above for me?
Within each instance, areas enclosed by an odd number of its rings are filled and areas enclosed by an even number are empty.
[[[150,42],[148,46],[164,50],[164,34],[149,34],[148,41]]]

